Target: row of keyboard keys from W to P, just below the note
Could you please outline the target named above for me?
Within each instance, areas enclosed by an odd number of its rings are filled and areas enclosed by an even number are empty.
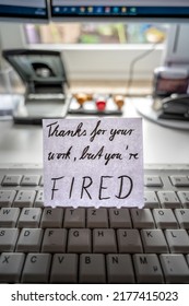
[[[189,228],[189,209],[1,208],[0,227]]]

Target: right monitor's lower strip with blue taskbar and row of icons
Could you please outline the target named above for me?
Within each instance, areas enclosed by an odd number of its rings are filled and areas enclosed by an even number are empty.
[[[189,17],[188,0],[50,0],[52,19],[164,20]]]

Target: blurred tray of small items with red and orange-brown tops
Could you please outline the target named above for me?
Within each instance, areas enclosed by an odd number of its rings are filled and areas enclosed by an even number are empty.
[[[75,93],[71,97],[68,114],[121,116],[123,95]]]

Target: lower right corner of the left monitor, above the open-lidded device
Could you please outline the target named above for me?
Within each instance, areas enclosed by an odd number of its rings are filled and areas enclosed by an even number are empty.
[[[0,21],[48,22],[47,0],[0,0]]]

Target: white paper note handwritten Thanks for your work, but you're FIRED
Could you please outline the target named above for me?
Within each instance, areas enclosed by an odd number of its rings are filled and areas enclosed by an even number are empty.
[[[143,207],[140,118],[45,119],[45,205]]]

